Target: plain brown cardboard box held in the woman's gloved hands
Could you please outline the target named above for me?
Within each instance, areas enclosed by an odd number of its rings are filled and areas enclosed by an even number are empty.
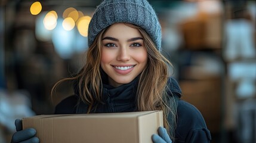
[[[41,143],[152,142],[163,126],[162,111],[38,115],[23,118],[23,129],[35,128]]]

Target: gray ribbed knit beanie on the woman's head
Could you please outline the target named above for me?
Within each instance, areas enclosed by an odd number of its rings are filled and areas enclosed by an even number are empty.
[[[131,23],[149,34],[156,48],[161,51],[161,25],[147,0],[104,0],[98,5],[88,29],[88,46],[95,37],[113,23]]]

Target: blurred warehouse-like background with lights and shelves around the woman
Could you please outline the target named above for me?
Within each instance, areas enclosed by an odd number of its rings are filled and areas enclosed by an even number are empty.
[[[100,2],[0,0],[0,142],[10,142],[15,119],[53,114],[73,93],[66,83],[50,95],[84,64],[88,23]],[[182,98],[201,111],[212,142],[255,143],[255,1],[149,2]]]

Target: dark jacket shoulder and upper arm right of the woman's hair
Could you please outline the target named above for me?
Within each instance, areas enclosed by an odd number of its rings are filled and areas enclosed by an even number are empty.
[[[211,134],[200,111],[183,100],[178,101],[175,136],[186,142],[209,142],[211,140]]]

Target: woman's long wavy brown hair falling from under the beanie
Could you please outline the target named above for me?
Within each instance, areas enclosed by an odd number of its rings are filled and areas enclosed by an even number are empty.
[[[162,110],[164,114],[164,127],[166,130],[172,132],[169,133],[170,137],[174,140],[174,126],[170,126],[168,123],[168,116],[172,117],[175,123],[176,109],[169,108],[169,104],[172,101],[168,95],[168,79],[170,76],[169,66],[172,64],[168,61],[161,52],[158,51],[155,44],[150,39],[149,35],[141,27],[135,26],[134,24],[125,23],[127,26],[137,29],[144,39],[144,46],[146,47],[148,54],[147,65],[141,72],[138,80],[137,89],[137,111],[152,111]],[[95,38],[92,45],[88,48],[85,66],[79,71],[76,76],[68,77],[59,80],[53,86],[51,95],[53,95],[57,85],[66,80],[75,80],[79,91],[80,99],[89,105],[87,113],[91,113],[95,103],[102,102],[102,86],[103,82],[101,79],[100,71],[100,60],[101,60],[101,39],[103,38],[106,30],[103,29]]]

